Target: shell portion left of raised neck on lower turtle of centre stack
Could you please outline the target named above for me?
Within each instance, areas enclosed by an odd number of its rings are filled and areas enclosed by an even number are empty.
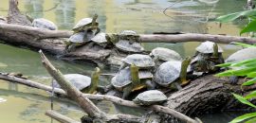
[[[126,67],[120,70],[119,74],[111,79],[111,83],[115,88],[119,90],[121,90],[124,86],[132,83],[130,68]]]

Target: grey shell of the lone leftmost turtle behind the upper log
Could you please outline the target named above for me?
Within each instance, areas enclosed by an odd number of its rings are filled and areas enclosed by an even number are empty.
[[[49,30],[57,30],[58,28],[53,22],[46,20],[45,18],[34,19],[32,25],[35,27],[45,28]]]

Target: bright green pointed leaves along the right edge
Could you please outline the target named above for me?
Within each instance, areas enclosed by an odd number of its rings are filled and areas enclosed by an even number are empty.
[[[240,35],[247,32],[255,32],[256,31],[256,9],[245,10],[241,12],[230,13],[228,15],[223,15],[218,17],[216,20],[220,23],[226,23],[234,21],[238,18],[246,17],[249,21],[247,26],[242,28],[240,31]],[[241,44],[241,43],[232,43],[241,45],[243,47],[255,47],[256,45],[251,44]],[[256,59],[250,59],[242,62],[226,62],[223,64],[219,64],[220,67],[227,67],[229,70],[219,73],[216,76],[218,77],[229,77],[229,76],[240,76],[250,78],[246,82],[242,84],[242,86],[249,86],[256,83]],[[250,107],[256,108],[256,105],[252,104],[248,100],[256,97],[256,90],[251,92],[245,97],[239,96],[237,94],[232,94],[236,99],[238,99],[241,103],[247,104]],[[244,114],[234,118],[230,123],[255,123],[256,122],[256,113]]]

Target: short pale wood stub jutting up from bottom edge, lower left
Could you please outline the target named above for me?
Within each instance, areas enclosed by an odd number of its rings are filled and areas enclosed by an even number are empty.
[[[46,115],[50,116],[51,118],[54,118],[55,120],[61,122],[61,123],[81,123],[79,121],[76,121],[74,119],[71,119],[63,114],[59,114],[55,111],[48,110],[46,111]]]

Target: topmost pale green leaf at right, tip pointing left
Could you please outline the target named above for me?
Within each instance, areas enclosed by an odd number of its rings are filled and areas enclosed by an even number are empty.
[[[245,10],[245,11],[240,11],[240,12],[235,12],[235,13],[230,13],[227,15],[219,16],[216,21],[220,23],[227,23],[231,22],[241,16],[255,16],[256,15],[256,9],[251,9],[251,10]]]

